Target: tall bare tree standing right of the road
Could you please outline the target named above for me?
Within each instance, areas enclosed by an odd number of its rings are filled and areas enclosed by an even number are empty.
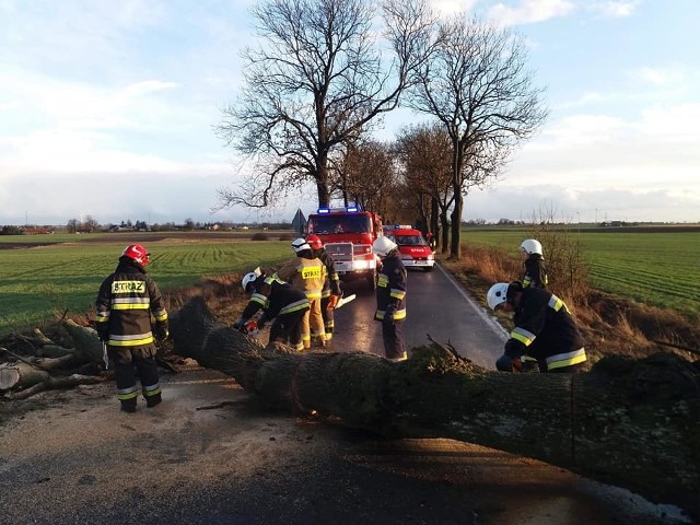
[[[452,238],[460,257],[464,195],[497,177],[512,150],[542,124],[544,90],[525,69],[526,48],[508,28],[455,16],[439,24],[436,50],[410,105],[433,115],[452,141]]]

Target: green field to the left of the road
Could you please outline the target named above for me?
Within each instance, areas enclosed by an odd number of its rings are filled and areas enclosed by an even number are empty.
[[[246,272],[293,256],[289,241],[249,242],[226,234],[121,234],[0,236],[0,334],[38,326],[68,310],[85,314],[102,280],[131,242],[151,252],[149,273],[162,290],[202,277]],[[40,245],[47,243],[46,245]],[[49,244],[55,243],[55,244]],[[35,246],[36,245],[36,246]]]

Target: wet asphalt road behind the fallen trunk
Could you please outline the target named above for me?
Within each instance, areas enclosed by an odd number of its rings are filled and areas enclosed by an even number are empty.
[[[373,320],[374,292],[364,279],[343,284],[346,295],[357,299],[336,311],[334,348],[362,350],[383,355],[382,327]],[[408,270],[407,319],[404,323],[408,349],[432,339],[451,343],[475,364],[493,369],[503,350],[506,334],[487,312],[469,298],[452,276],[435,266],[433,271]]]

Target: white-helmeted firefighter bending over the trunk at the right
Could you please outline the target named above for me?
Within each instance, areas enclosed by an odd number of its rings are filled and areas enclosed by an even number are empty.
[[[487,293],[493,311],[514,312],[514,328],[497,370],[518,371],[521,357],[537,360],[540,372],[578,372],[586,351],[576,324],[561,299],[542,288],[523,288],[520,281],[493,284]]]

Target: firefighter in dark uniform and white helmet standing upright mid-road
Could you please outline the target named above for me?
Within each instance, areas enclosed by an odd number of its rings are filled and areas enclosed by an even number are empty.
[[[406,320],[406,268],[398,246],[385,236],[372,243],[372,252],[382,260],[374,319],[382,323],[384,354],[392,362],[405,361],[408,357],[401,325]]]

